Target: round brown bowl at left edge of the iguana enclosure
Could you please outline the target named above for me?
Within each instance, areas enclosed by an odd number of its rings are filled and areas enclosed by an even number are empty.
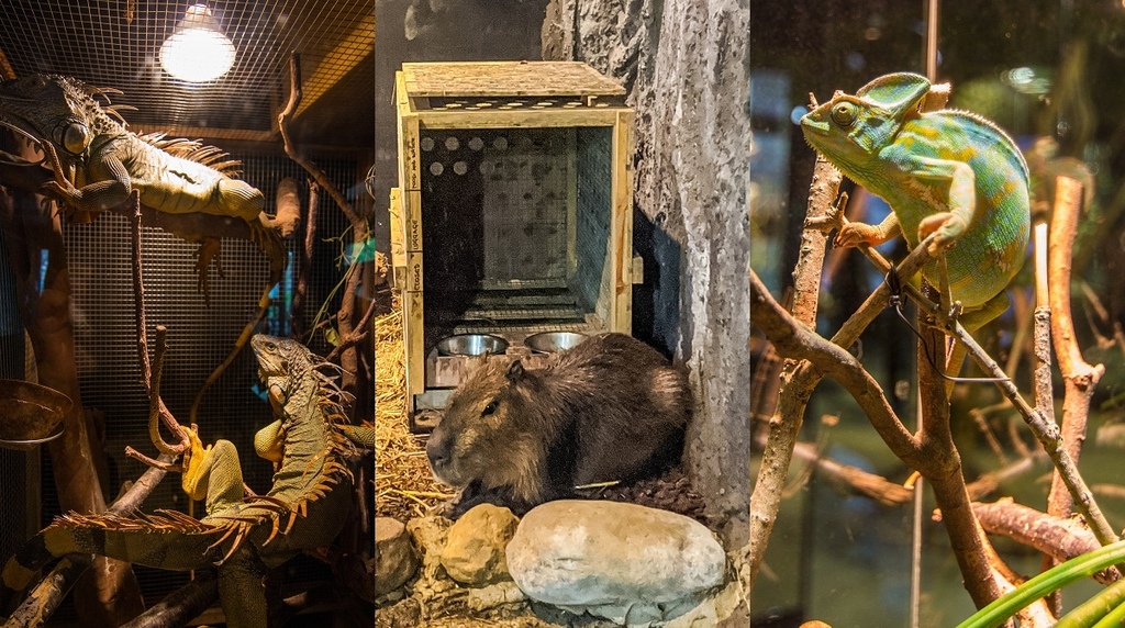
[[[72,402],[65,394],[22,380],[0,380],[0,447],[28,450],[63,433]]]

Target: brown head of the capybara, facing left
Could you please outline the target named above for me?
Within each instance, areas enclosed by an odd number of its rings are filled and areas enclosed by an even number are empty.
[[[477,368],[450,398],[426,443],[434,475],[452,486],[479,481],[485,488],[511,486],[522,498],[538,497],[546,445],[541,421],[532,416],[538,379],[519,359]]]

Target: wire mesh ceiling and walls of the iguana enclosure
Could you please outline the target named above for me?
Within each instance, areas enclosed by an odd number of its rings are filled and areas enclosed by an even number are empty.
[[[206,4],[235,48],[225,75],[201,83],[174,79],[163,71],[160,51],[194,4]],[[0,9],[0,78],[34,73],[63,74],[110,94],[124,110],[129,130],[164,131],[170,136],[206,138],[242,162],[240,178],[260,189],[266,211],[273,213],[278,182],[294,178],[307,206],[307,173],[281,152],[277,113],[286,104],[289,60],[300,54],[300,107],[292,120],[298,146],[326,172],[354,209],[370,212],[363,174],[370,165],[374,130],[372,69],[375,0],[11,0]],[[342,98],[343,97],[343,98]],[[357,124],[357,120],[360,122]],[[0,185],[4,182],[0,181]],[[346,265],[341,236],[349,227],[328,194],[320,194],[318,239],[306,294],[306,320],[331,299]],[[147,435],[147,400],[137,358],[129,221],[104,212],[90,225],[63,227],[74,322],[75,362],[82,403],[105,426],[112,499],[125,481],[144,466],[124,455],[133,446],[155,455]],[[287,319],[304,229],[288,246],[290,263],[272,293],[264,329],[290,333]],[[16,307],[15,280],[0,239],[0,377],[25,376],[24,328]],[[169,354],[162,397],[181,424],[202,382],[232,349],[252,318],[269,280],[269,262],[256,245],[224,239],[223,276],[210,271],[210,304],[197,291],[197,245],[155,228],[142,230],[142,265],[150,348],[156,325],[169,329]],[[318,335],[308,343],[325,354]],[[270,422],[269,403],[260,388],[252,353],[243,352],[210,388],[196,420],[205,443],[227,439],[241,452],[248,485],[269,489],[270,463],[254,455],[253,435]],[[10,556],[42,521],[60,512],[50,456],[0,449],[0,559]],[[144,510],[188,511],[180,477],[170,474],[145,500]],[[201,504],[197,504],[201,510]],[[197,517],[202,512],[195,513]],[[135,567],[142,593],[151,604],[179,588],[188,575]],[[331,579],[326,566],[298,557],[286,566],[287,582]],[[69,603],[69,602],[68,602]],[[65,610],[54,618],[68,621]],[[70,621],[73,621],[71,613]]]

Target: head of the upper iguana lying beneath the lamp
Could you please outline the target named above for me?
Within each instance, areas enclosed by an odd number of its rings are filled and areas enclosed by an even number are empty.
[[[51,142],[60,157],[84,153],[98,136],[114,137],[124,127],[93,99],[112,90],[54,74],[33,74],[0,82],[0,124],[37,142]]]

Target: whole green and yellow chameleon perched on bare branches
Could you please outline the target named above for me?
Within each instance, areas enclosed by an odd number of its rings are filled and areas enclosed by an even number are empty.
[[[893,211],[875,227],[847,225],[839,245],[881,244],[901,233],[912,248],[936,231],[953,299],[992,318],[1006,307],[1002,291],[1027,247],[1027,164],[989,120],[966,111],[924,111],[929,91],[929,81],[917,74],[880,76],[855,95],[836,92],[801,118],[801,129],[813,148]],[[940,285],[936,262],[922,274]]]

